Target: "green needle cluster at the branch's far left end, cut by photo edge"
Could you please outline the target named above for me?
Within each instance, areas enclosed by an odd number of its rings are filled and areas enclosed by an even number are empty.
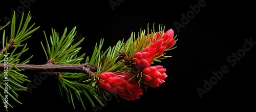
[[[19,21],[19,26],[16,25],[15,12],[13,13],[12,20],[9,21],[4,27],[1,27],[0,30],[4,29],[9,23],[11,23],[10,39],[6,36],[6,32],[3,32],[3,49],[0,51],[0,63],[5,63],[6,69],[0,71],[0,88],[3,89],[4,94],[0,93],[0,97],[8,111],[8,106],[13,107],[5,98],[8,100],[14,100],[15,102],[22,104],[17,100],[18,94],[16,91],[27,91],[27,87],[23,85],[24,82],[30,82],[27,76],[20,73],[20,70],[16,68],[16,64],[26,64],[33,57],[30,56],[25,60],[20,60],[25,52],[28,51],[27,43],[22,44],[25,40],[31,37],[31,34],[36,31],[39,27],[33,28],[35,24],[29,25],[31,16],[28,13],[25,22],[23,22],[24,13]],[[18,28],[16,30],[16,27]],[[12,48],[12,49],[10,49]],[[21,48],[21,49],[19,49]],[[8,63],[13,64],[8,66]]]

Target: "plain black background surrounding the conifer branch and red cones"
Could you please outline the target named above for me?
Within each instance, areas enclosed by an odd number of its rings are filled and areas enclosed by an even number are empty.
[[[46,62],[40,41],[45,42],[43,31],[49,36],[51,28],[61,33],[66,27],[71,30],[76,26],[78,36],[86,37],[81,44],[81,53],[91,56],[100,38],[104,38],[104,47],[107,48],[114,46],[118,40],[128,39],[132,32],[147,29],[147,24],[151,29],[154,23],[156,28],[161,24],[166,30],[172,28],[178,39],[178,48],[167,52],[173,57],[159,63],[167,69],[166,82],[160,87],[148,88],[135,101],[119,98],[118,102],[112,98],[97,111],[209,111],[254,106],[250,102],[254,102],[255,87],[252,85],[255,82],[252,76],[255,75],[256,48],[245,52],[234,66],[227,62],[232,53],[243,49],[245,39],[256,41],[255,8],[252,3],[205,0],[205,7],[192,15],[184,28],[176,28],[174,23],[181,23],[181,14],[192,11],[189,6],[198,5],[199,0],[113,1],[119,4],[114,10],[109,1],[31,1],[23,12],[27,15],[30,11],[31,23],[40,28],[26,41],[29,51],[24,57],[34,55],[30,64]],[[17,11],[21,6],[19,1],[1,1],[0,26],[6,23],[4,17],[11,17],[11,9]],[[77,37],[76,41],[79,39]],[[220,71],[223,65],[229,71],[200,98],[197,88],[203,89],[204,80],[209,81],[214,76],[212,71]],[[27,74],[32,81],[35,78],[33,75]],[[32,93],[18,94],[18,100],[23,104],[10,101],[14,108],[9,108],[9,111],[84,111],[79,102],[75,102],[74,109],[66,97],[60,96],[57,79],[50,76],[33,88]],[[5,111],[2,106],[0,111]],[[86,108],[86,111],[93,111],[89,102]]]

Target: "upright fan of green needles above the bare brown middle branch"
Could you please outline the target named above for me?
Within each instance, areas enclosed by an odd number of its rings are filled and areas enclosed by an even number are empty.
[[[52,29],[52,35],[50,36],[50,44],[48,42],[47,35],[45,33],[45,38],[47,42],[47,48],[44,47],[41,42],[42,48],[45,51],[46,58],[54,62],[54,64],[77,64],[83,60],[83,53],[81,56],[77,57],[77,53],[81,47],[77,47],[83,40],[79,40],[74,45],[71,44],[76,35],[76,27],[74,27],[69,34],[67,34],[68,28],[65,28],[62,36]]]

